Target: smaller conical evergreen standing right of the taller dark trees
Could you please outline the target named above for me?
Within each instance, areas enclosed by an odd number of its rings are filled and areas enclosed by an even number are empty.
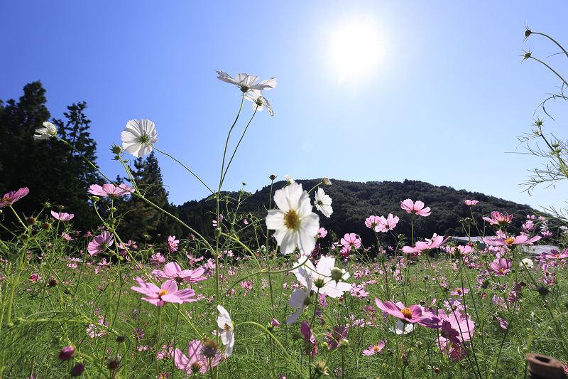
[[[168,191],[165,191],[163,186],[162,173],[155,154],[152,152],[146,158],[140,157],[133,164],[132,176],[144,197],[177,216],[177,208],[168,203]],[[124,178],[124,180],[128,179]],[[182,233],[177,221],[138,196],[132,195],[118,199],[118,201],[115,200],[115,206],[123,215],[118,228],[123,239],[165,247],[169,235],[180,236]]]

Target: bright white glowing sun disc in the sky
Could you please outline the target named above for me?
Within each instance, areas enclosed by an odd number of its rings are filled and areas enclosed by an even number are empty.
[[[339,82],[368,75],[385,55],[384,42],[371,19],[350,21],[331,33],[330,55]]]

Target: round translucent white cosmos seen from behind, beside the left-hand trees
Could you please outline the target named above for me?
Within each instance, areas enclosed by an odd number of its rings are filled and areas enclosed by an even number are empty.
[[[156,137],[158,133],[149,119],[131,119],[120,135],[122,149],[137,158],[151,153],[152,146],[158,142]]]

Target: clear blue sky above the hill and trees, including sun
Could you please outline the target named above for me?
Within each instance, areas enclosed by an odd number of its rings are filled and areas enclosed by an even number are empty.
[[[270,174],[411,179],[560,208],[566,184],[522,192],[545,161],[515,152],[559,85],[535,61],[521,65],[522,49],[560,72],[567,63],[546,58],[557,49],[545,38],[523,43],[525,22],[568,45],[566,14],[566,1],[4,1],[0,99],[41,80],[52,117],[86,101],[109,178],[124,175],[109,148],[126,123],[151,119],[155,146],[217,188],[240,97],[215,70],[275,77],[264,93],[275,116],[256,114],[224,190],[254,192]],[[549,110],[555,122],[537,115],[564,137],[562,104]],[[252,114],[245,103],[229,148]],[[170,201],[207,196],[158,159]]]

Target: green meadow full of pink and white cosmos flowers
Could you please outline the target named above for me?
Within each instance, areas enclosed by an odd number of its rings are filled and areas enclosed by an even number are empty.
[[[241,109],[249,100],[253,117],[262,108],[273,114],[263,91],[275,78],[217,75],[239,87]],[[481,239],[458,244],[441,230],[419,240],[414,228],[396,233],[397,214],[414,221],[435,218],[436,210],[401,198],[388,215],[361,220],[361,230],[387,233],[390,245],[361,240],[359,230],[334,237],[320,228],[320,218],[334,216],[325,193],[333,183],[322,178],[303,188],[289,176],[273,188],[267,210],[239,213],[243,200],[224,198],[221,189],[253,119],[229,149],[240,115],[229,128],[219,184],[205,185],[216,203],[213,240],[183,223],[190,237],[170,235],[167,247],[116,232],[117,198],[159,208],[126,159],[159,151],[147,119],[129,121],[112,148],[129,184],[100,173],[107,183],[88,188],[95,230],[75,230],[73,210],[60,205],[19,213],[26,187],[1,198],[9,231],[0,240],[2,378],[561,378],[568,371],[564,225],[527,215],[523,232],[511,235],[512,216],[495,211],[484,225],[462,220],[464,234]],[[542,122],[535,127],[547,141]],[[33,137],[69,144],[47,121]],[[549,146],[547,156],[557,159],[552,177],[567,176],[564,144]],[[463,201],[470,209],[478,203]],[[241,240],[245,230],[253,240]],[[557,249],[526,249],[550,241]]]

